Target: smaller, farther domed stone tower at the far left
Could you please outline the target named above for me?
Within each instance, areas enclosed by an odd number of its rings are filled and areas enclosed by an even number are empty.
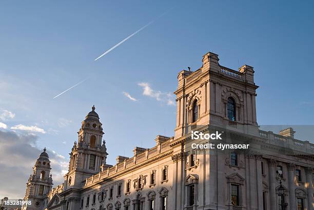
[[[50,160],[45,148],[44,152],[36,160],[33,167],[33,174],[30,175],[26,183],[24,199],[31,201],[31,205],[23,206],[23,210],[43,209],[44,199],[53,185],[50,170]]]

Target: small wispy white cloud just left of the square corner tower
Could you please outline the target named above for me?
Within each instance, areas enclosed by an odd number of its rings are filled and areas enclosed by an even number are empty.
[[[155,98],[158,101],[166,102],[169,106],[174,106],[173,94],[153,90],[147,82],[140,82],[138,85],[143,88],[143,95]]]

